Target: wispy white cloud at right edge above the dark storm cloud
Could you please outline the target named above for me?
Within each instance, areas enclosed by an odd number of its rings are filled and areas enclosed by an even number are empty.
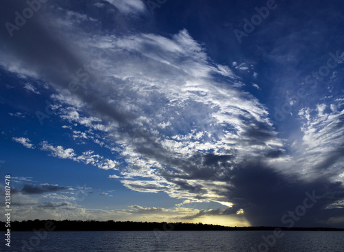
[[[301,174],[307,180],[329,176],[333,181],[343,182],[340,174],[344,161],[344,136],[341,128],[344,109],[338,109],[343,108],[339,100],[333,102],[330,106],[318,104],[316,108],[303,108],[299,111],[303,136],[301,141],[294,141],[292,145],[294,161],[287,169],[288,172]]]

